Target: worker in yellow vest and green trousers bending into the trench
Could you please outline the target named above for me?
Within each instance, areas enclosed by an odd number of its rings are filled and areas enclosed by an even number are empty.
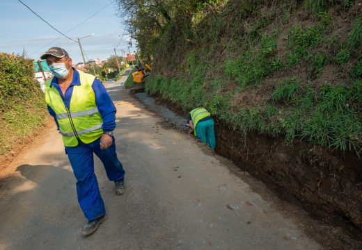
[[[189,124],[189,131],[201,140],[201,142],[210,146],[212,150],[215,149],[217,143],[215,141],[214,120],[211,114],[205,108],[195,108],[191,110],[187,117]]]

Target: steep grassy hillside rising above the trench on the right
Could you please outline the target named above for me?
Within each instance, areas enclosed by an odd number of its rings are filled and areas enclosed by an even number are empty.
[[[362,156],[361,13],[354,1],[210,1],[159,38],[145,90],[245,134]]]

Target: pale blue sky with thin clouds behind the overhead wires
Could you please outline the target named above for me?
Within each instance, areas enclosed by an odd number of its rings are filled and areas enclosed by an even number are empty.
[[[81,45],[86,52],[86,61],[87,58],[106,60],[114,55],[113,48],[116,48],[118,42],[120,44],[116,49],[117,56],[121,55],[121,49],[128,51],[129,35],[127,31],[123,35],[122,19],[116,16],[117,6],[111,0],[22,0],[22,2],[73,40],[83,38]],[[102,8],[104,8],[102,11],[84,24],[66,33]],[[0,27],[0,52],[22,54],[25,49],[29,58],[38,60],[49,47],[62,47],[68,51],[74,65],[83,62],[77,42],[68,40],[54,31],[17,0],[0,0]],[[94,35],[84,38],[92,33]],[[59,36],[61,38],[52,42]],[[134,51],[134,40],[132,44],[131,51]]]

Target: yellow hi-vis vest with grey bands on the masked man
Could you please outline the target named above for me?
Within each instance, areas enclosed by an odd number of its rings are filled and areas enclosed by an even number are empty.
[[[79,71],[78,71],[79,72]],[[65,108],[61,94],[55,87],[50,87],[52,78],[45,82],[45,101],[56,113],[59,131],[63,135],[65,146],[76,147],[78,140],[91,143],[103,133],[102,117],[95,103],[92,88],[94,76],[79,72],[81,85],[74,85],[70,108]]]

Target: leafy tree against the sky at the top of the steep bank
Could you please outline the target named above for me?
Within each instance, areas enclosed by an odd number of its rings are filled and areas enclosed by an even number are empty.
[[[143,56],[152,56],[163,35],[178,24],[191,24],[194,13],[219,0],[116,0],[118,15]],[[168,34],[167,34],[168,33]],[[188,39],[188,38],[187,38]]]

